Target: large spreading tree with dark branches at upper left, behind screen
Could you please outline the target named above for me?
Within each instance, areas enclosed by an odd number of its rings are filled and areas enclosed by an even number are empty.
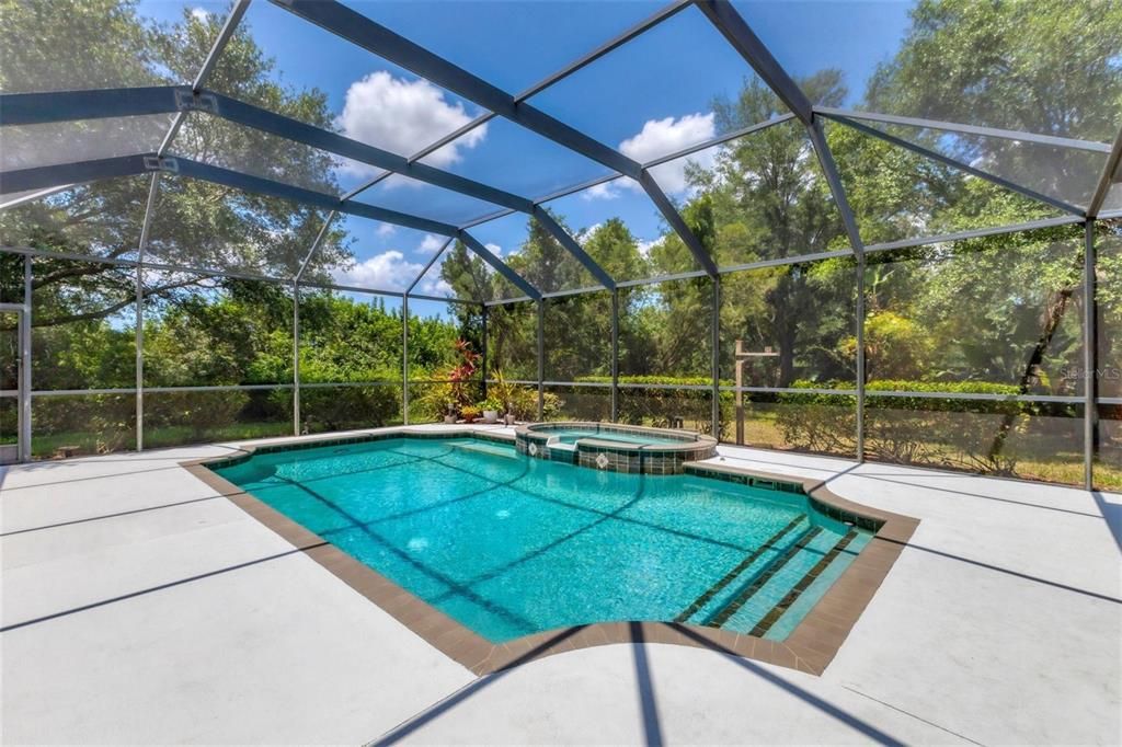
[[[4,90],[54,90],[181,83],[194,77],[224,18],[196,17],[184,9],[174,24],[155,25],[140,18],[136,3],[6,2],[0,28],[7,38],[35,39],[17,45],[4,57],[0,80]],[[71,59],[72,55],[76,55]],[[330,126],[331,116],[322,92],[298,92],[276,82],[274,63],[255,46],[242,24],[214,72],[213,82],[223,90],[264,96],[280,113]],[[132,118],[119,128],[99,122],[76,122],[58,128],[29,128],[6,133],[6,146],[39,160],[58,158],[61,151],[75,159],[90,153],[135,153],[155,149],[167,133],[167,117]],[[118,148],[119,150],[114,150]],[[268,162],[272,178],[338,192],[327,154],[260,135],[209,114],[192,113],[173,141],[171,153],[206,163],[252,170]],[[0,213],[0,239],[4,246],[30,246],[109,259],[136,253],[145,214],[149,177],[125,177],[81,185],[49,197]],[[319,211],[284,201],[252,195],[205,182],[167,175],[160,179],[147,258],[183,267],[243,269],[291,276],[307,256],[323,224]],[[342,236],[329,232],[306,273],[323,279],[325,268],[349,257]],[[104,266],[80,265],[44,258],[36,260],[36,292],[46,299],[55,295],[54,308],[33,323],[46,320],[62,324],[96,314],[118,313],[123,286]],[[42,271],[39,271],[42,269]],[[96,284],[84,278],[107,277]],[[160,277],[160,276],[154,276]],[[177,297],[206,284],[182,274],[163,276],[165,283],[148,283],[151,296]],[[68,288],[85,284],[81,308],[67,311],[63,301]],[[89,287],[96,285],[95,288]]]

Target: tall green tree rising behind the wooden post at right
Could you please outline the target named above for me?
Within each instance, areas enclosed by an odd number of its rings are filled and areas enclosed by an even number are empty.
[[[840,76],[824,71],[799,84],[813,100],[837,105],[845,98]],[[718,127],[735,130],[785,111],[775,94],[756,80],[745,83],[735,100],[715,102]],[[688,172],[695,196],[683,209],[697,233],[723,267],[827,251],[847,245],[840,214],[833,204],[801,126],[784,123],[738,138],[723,147],[712,168]],[[673,237],[655,255],[681,251]],[[800,369],[834,378],[846,367],[837,360],[836,339],[850,324],[854,277],[839,271],[793,266],[775,271],[725,275],[721,278],[723,370],[732,370],[733,341],[748,348],[774,348],[775,378],[790,386]],[[698,319],[703,304],[688,298],[672,305],[674,319]],[[688,315],[688,316],[683,316]],[[703,319],[703,317],[702,317]],[[847,322],[848,321],[848,322]],[[691,334],[703,350],[705,329]],[[735,335],[735,336],[734,336]]]

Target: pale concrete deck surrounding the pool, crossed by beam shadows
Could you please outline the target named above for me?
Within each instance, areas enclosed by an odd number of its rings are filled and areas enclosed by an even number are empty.
[[[178,465],[231,449],[7,470],[4,743],[1122,740],[1118,495],[723,445],[922,519],[821,676],[635,626],[477,677]]]

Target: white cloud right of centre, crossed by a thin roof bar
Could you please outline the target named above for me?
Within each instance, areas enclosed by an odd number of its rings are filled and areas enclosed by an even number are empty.
[[[645,164],[671,153],[677,153],[691,145],[703,142],[716,135],[714,114],[687,114],[681,118],[666,117],[651,119],[643,125],[634,137],[619,144],[619,151],[628,158]],[[686,165],[690,162],[702,168],[710,168],[717,155],[717,148],[707,148],[686,158],[677,158],[651,169],[654,181],[668,194],[682,194],[688,191]],[[622,190],[642,192],[642,187],[633,179],[622,178],[606,184],[597,184],[586,190],[581,196],[585,200],[615,200]]]

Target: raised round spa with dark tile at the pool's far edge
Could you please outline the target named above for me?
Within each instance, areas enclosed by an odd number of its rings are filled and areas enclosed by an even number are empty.
[[[515,445],[537,459],[646,474],[681,474],[683,463],[717,453],[716,439],[692,431],[579,421],[519,426]]]

